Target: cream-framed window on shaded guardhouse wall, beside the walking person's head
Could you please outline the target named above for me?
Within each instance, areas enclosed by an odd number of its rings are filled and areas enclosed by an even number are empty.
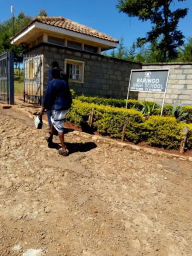
[[[65,72],[72,82],[84,82],[84,62],[65,59]]]

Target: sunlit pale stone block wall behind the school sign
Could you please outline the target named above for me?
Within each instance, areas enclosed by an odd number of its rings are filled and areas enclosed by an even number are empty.
[[[143,64],[142,69],[170,69],[165,104],[192,105],[192,63]],[[138,93],[139,100],[162,103],[164,94]]]

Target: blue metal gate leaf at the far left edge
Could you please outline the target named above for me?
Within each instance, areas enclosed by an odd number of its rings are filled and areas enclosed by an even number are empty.
[[[14,54],[0,54],[0,102],[14,104]]]

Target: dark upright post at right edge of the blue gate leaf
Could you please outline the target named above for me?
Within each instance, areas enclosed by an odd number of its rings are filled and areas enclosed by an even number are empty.
[[[8,103],[14,104],[14,53],[8,52],[8,91],[7,95],[9,96]]]

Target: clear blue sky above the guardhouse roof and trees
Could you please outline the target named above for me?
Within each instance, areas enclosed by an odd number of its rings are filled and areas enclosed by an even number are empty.
[[[64,16],[117,39],[123,36],[125,45],[131,46],[137,37],[144,36],[150,30],[151,24],[119,13],[115,7],[117,2],[118,0],[0,0],[0,22],[10,18],[11,5],[14,5],[15,15],[24,11],[27,15],[35,16],[40,9],[45,9],[49,16]],[[189,8],[187,17],[179,23],[179,29],[185,36],[192,36],[192,0],[175,3],[173,6]]]

